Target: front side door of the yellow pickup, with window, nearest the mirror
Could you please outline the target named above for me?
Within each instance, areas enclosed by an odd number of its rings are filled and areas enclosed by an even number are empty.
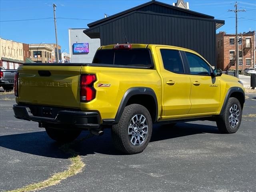
[[[220,80],[212,77],[210,65],[200,56],[185,52],[191,80],[191,109],[188,114],[214,114],[220,105]]]

